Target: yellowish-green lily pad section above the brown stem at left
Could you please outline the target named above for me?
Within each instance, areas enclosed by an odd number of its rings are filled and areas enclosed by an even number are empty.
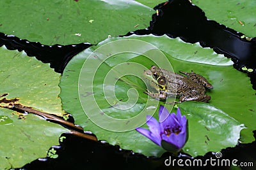
[[[58,97],[60,74],[35,57],[4,48],[0,48],[0,94],[8,93],[8,99],[19,97],[19,102],[24,106],[63,115]]]

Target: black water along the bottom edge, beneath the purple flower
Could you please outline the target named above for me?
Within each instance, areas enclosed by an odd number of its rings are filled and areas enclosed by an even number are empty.
[[[109,145],[108,143],[90,141],[88,139],[77,138],[68,134],[62,134],[66,139],[60,142],[60,146],[52,146],[58,154],[58,158],[34,160],[26,164],[23,169],[198,169],[198,167],[182,168],[175,166],[165,166],[164,161],[171,157],[173,159],[182,159],[183,163],[190,159],[189,155],[180,154],[174,156],[172,153],[164,153],[161,157],[145,157],[144,155],[133,153],[129,150],[121,150],[119,146]],[[256,137],[256,134],[254,134]],[[251,144],[239,144],[235,148],[226,148],[221,150],[221,159],[237,159],[239,162],[253,162],[255,164],[256,142]],[[195,157],[195,159],[216,159],[214,153],[209,152],[204,157]],[[188,161],[188,160],[187,160]],[[237,162],[238,164],[238,162]],[[204,167],[204,169],[216,169],[216,167]],[[218,169],[227,169],[227,167],[218,167]]]

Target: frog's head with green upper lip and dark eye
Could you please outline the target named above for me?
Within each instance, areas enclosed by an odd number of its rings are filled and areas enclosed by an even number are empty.
[[[157,66],[151,66],[144,71],[143,76],[150,81],[150,87],[156,90],[166,90],[166,78],[163,72]]]

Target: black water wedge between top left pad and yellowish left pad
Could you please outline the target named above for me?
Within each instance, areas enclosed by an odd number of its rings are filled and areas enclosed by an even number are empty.
[[[90,43],[80,43],[77,45],[42,45],[38,42],[29,42],[26,39],[19,39],[12,35],[0,32],[0,46],[5,45],[8,50],[24,50],[29,57],[50,63],[57,73],[63,73],[69,60],[77,53],[92,46]]]

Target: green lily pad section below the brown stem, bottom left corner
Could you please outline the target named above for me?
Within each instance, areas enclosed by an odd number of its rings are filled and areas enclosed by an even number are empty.
[[[12,123],[0,124],[0,169],[22,167],[28,162],[47,156],[52,145],[67,129],[33,115],[19,119],[15,111],[0,108],[0,115]]]

